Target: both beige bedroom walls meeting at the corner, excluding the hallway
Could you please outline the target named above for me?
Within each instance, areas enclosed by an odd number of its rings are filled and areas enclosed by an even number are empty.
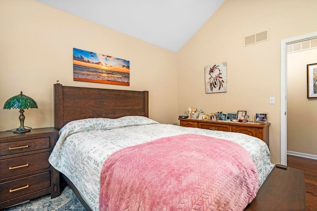
[[[316,0],[226,0],[173,53],[61,12],[35,0],[0,1],[0,102],[21,90],[39,109],[25,125],[53,126],[53,84],[149,90],[150,118],[177,124],[188,106],[206,113],[267,112],[273,163],[280,160],[280,41],[317,31]],[[242,38],[269,30],[269,41],[242,46]],[[131,85],[74,82],[72,48],[130,60]],[[227,62],[228,91],[205,94],[204,67]],[[269,104],[269,97],[275,104]],[[0,130],[16,128],[17,110],[0,110]]]

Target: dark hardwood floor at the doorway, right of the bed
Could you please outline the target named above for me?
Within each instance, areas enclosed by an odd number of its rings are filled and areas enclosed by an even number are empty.
[[[287,166],[303,170],[306,211],[317,211],[317,160],[287,155]]]

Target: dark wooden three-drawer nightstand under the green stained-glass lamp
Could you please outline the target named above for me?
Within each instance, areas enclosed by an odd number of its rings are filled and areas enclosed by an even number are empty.
[[[57,138],[53,127],[0,132],[0,209],[46,194],[60,195],[59,172],[48,160]]]

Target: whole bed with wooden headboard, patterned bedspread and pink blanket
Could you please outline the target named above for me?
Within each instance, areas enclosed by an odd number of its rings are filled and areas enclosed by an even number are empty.
[[[159,124],[148,118],[148,103],[148,91],[54,84],[60,137],[50,163],[85,209],[243,210],[274,166],[266,144],[240,133]]]

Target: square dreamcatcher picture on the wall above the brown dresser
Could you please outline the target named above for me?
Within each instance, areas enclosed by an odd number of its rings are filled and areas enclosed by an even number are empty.
[[[227,62],[216,63],[205,67],[205,92],[227,92]]]

